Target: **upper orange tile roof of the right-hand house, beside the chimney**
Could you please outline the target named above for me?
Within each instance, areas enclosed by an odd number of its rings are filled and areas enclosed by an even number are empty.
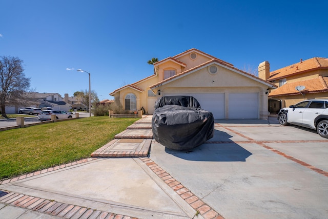
[[[304,73],[315,69],[328,69],[328,58],[314,57],[270,72],[268,81]]]

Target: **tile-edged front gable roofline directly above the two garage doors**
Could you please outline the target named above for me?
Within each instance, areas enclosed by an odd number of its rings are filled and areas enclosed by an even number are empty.
[[[176,74],[176,75],[174,75],[174,76],[172,76],[172,77],[169,77],[169,78],[167,78],[167,79],[165,79],[165,80],[163,80],[163,81],[161,81],[161,82],[158,82],[158,83],[156,83],[156,84],[150,86],[150,88],[151,88],[151,89],[154,89],[154,88],[156,88],[156,87],[161,86],[163,83],[168,83],[169,81],[172,81],[172,80],[175,79],[175,78],[181,77],[181,76],[186,75],[186,74],[188,74],[188,73],[190,73],[190,72],[192,72],[192,71],[194,71],[194,70],[196,70],[196,69],[198,69],[198,68],[201,68],[201,67],[203,67],[203,66],[206,66],[206,65],[209,65],[209,64],[211,64],[211,63],[215,63],[215,62],[216,62],[216,63],[219,63],[219,64],[221,64],[221,65],[227,66],[228,68],[232,68],[232,69],[234,69],[234,70],[236,70],[236,71],[239,71],[239,72],[242,73],[242,74],[245,74],[245,75],[248,75],[248,76],[250,76],[250,77],[253,77],[254,79],[258,79],[259,81],[262,81],[262,82],[264,82],[264,83],[270,84],[272,87],[277,87],[275,84],[272,84],[272,83],[270,83],[270,82],[268,82],[268,81],[265,81],[265,80],[263,80],[263,79],[261,79],[261,78],[255,76],[255,75],[253,75],[253,74],[250,74],[250,73],[244,72],[244,71],[242,71],[242,70],[240,70],[240,69],[238,69],[238,68],[233,67],[233,66],[230,65],[230,64],[227,64],[227,62],[224,62],[224,61],[222,61],[221,59],[214,58],[214,59],[211,59],[210,61],[208,61],[208,62],[206,62],[206,63],[202,63],[202,64],[200,64],[200,65],[198,65],[198,66],[195,66],[194,68],[188,69],[187,71],[181,72],[181,73]]]

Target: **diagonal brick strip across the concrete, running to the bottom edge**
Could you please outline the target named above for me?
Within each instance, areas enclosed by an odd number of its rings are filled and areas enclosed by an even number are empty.
[[[183,200],[185,200],[193,209],[199,212],[205,219],[224,219],[212,207],[201,201],[194,193],[176,181],[168,172],[159,167],[148,157],[139,158],[144,162],[158,177],[161,178],[171,189],[173,189]]]

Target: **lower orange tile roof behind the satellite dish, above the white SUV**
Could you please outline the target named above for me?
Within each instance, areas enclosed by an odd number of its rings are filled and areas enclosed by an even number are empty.
[[[328,77],[318,76],[316,78],[311,78],[303,81],[286,83],[283,86],[272,90],[269,93],[269,97],[297,95],[299,92],[295,88],[300,85],[305,86],[305,89],[302,91],[302,93],[328,92]]]

